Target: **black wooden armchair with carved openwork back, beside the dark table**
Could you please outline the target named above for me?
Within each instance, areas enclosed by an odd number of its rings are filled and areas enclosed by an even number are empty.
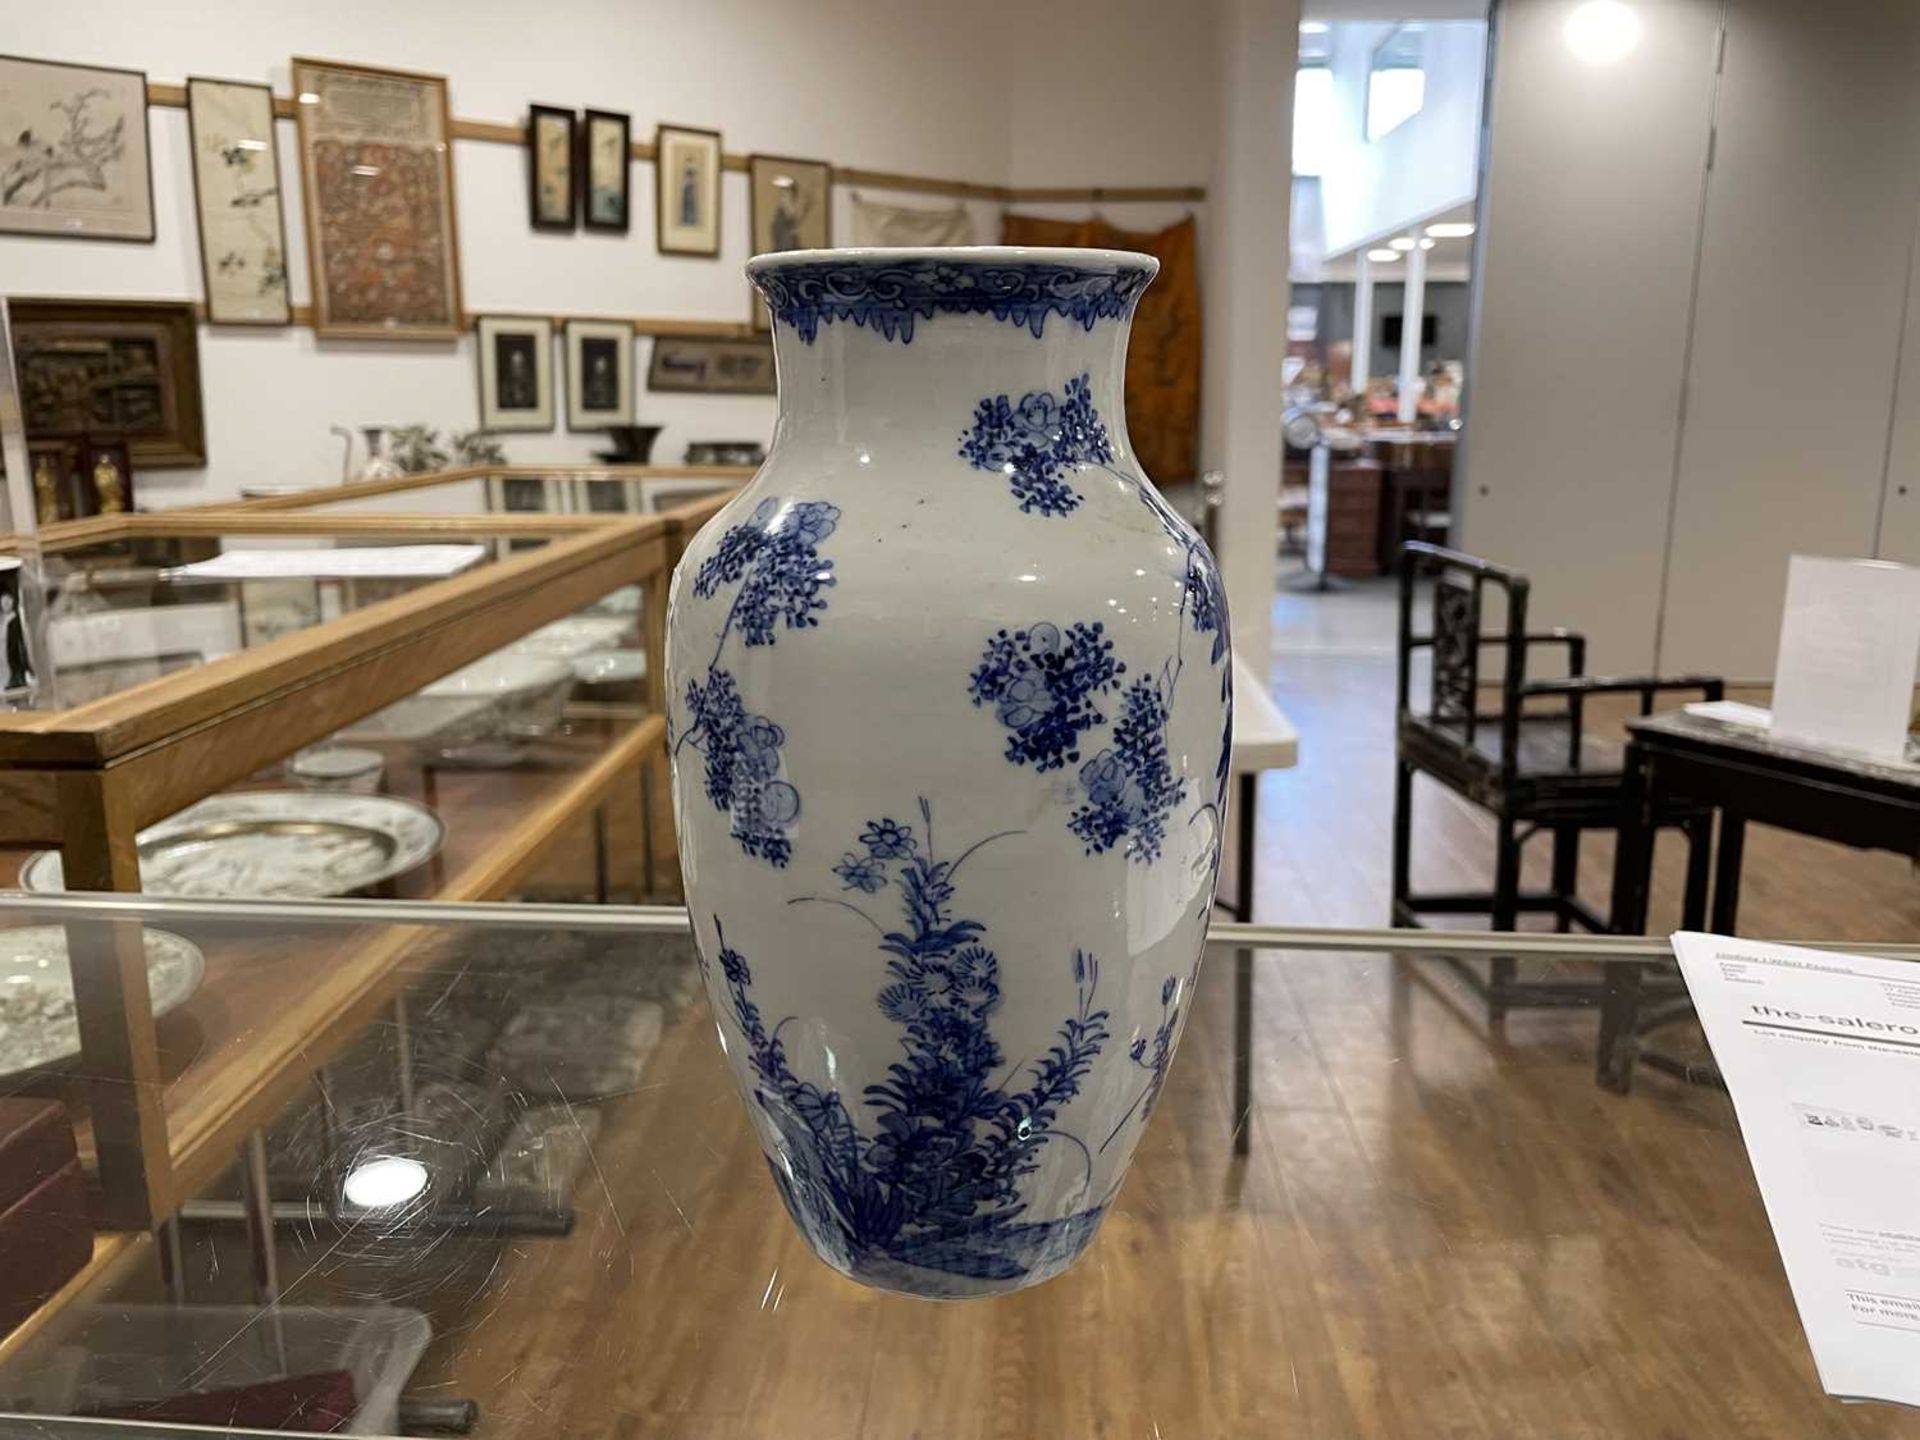
[[[1415,630],[1423,582],[1432,595]],[[1400,553],[1400,680],[1394,774],[1394,924],[1425,925],[1427,916],[1488,916],[1492,929],[1517,929],[1523,914],[1549,914],[1557,931],[1580,925],[1609,931],[1611,918],[1578,897],[1580,837],[1619,829],[1624,747],[1586,732],[1594,695],[1638,695],[1651,714],[1661,693],[1693,691],[1720,699],[1715,676],[1601,678],[1586,674],[1586,639],[1571,630],[1526,628],[1524,574],[1488,561],[1409,541]],[[1494,626],[1488,626],[1492,614]],[[1425,712],[1413,708],[1413,657],[1432,655]],[[1528,678],[1536,651],[1559,651],[1565,674]],[[1482,693],[1482,659],[1490,660]],[[1482,708],[1490,707],[1490,708]],[[1494,885],[1488,891],[1413,891],[1413,776],[1428,774],[1494,818]],[[1678,810],[1659,824],[1686,831],[1688,912],[1705,906],[1711,812]],[[1544,891],[1521,889],[1521,851],[1551,835],[1553,868]],[[1521,979],[1511,956],[1482,975],[1450,960],[1486,1002],[1490,1021],[1521,1006],[1590,1006],[1603,983]]]

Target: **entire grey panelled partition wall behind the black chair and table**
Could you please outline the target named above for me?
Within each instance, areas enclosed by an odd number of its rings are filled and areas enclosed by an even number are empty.
[[[1571,8],[1498,17],[1461,543],[1596,668],[1764,680],[1791,553],[1920,559],[1920,15],[1730,0],[1716,73],[1718,0],[1605,67]]]

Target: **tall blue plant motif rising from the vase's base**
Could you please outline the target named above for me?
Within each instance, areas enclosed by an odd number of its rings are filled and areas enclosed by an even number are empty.
[[[1085,1194],[1092,1156],[1060,1127],[1108,1041],[1110,1016],[1094,1006],[1100,968],[1091,954],[1073,952],[1073,1012],[1023,1079],[1008,1073],[991,1029],[1000,1006],[1000,960],[985,941],[983,922],[954,916],[960,868],[995,839],[1002,835],[939,860],[925,801],[918,828],[870,822],[858,849],[833,872],[841,895],[897,889],[904,918],[899,929],[854,900],[793,900],[852,910],[874,927],[887,956],[876,1004],[900,1027],[900,1058],[885,1081],[866,1087],[868,1127],[839,1091],[795,1073],[781,1041],[791,1020],[766,1025],[753,998],[753,970],[726,943],[714,916],[732,1021],[747,1044],[756,1100],[780,1135],[774,1181],[816,1248],[851,1275],[899,1275],[910,1267],[1016,1281],[1077,1254],[1104,1206],[1104,1196]],[[1021,1183],[1039,1169],[1048,1144],[1081,1152],[1085,1204],[1073,1215],[1029,1221]],[[918,1284],[941,1292],[937,1281]]]

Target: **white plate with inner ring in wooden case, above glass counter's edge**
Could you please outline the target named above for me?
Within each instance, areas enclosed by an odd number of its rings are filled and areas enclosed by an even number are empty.
[[[319,900],[403,876],[444,839],[440,816],[413,801],[269,789],[200,801],[134,843],[148,895]],[[19,883],[65,889],[60,852],[29,858]]]

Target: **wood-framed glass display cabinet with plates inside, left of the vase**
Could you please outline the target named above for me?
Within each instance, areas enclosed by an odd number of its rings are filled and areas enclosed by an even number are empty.
[[[0,714],[0,883],[674,895],[657,829],[670,532],[209,511],[42,532],[48,655],[33,708]],[[228,1164],[259,1106],[390,1002],[399,954],[290,941],[242,973],[125,929],[63,943],[71,989],[8,1002],[71,1008],[81,1160],[117,1227]],[[0,1027],[0,1068],[61,1058],[29,1029]]]

